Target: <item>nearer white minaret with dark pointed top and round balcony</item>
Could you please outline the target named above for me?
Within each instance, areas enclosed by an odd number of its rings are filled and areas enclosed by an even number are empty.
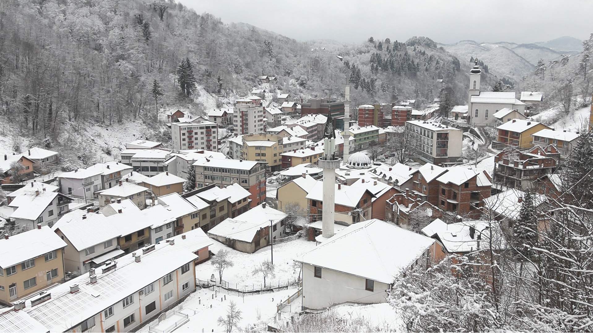
[[[324,239],[334,233],[334,206],[336,204],[336,168],[340,167],[340,159],[336,157],[336,132],[333,128],[331,113],[327,114],[326,130],[323,133],[323,157],[317,165],[323,169],[323,215],[322,233]]]

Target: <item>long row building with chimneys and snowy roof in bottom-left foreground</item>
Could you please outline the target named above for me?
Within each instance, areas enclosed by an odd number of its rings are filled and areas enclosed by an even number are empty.
[[[136,331],[195,291],[196,262],[210,245],[199,229],[146,245],[18,303],[0,315],[0,328],[17,312],[30,323],[25,332]]]

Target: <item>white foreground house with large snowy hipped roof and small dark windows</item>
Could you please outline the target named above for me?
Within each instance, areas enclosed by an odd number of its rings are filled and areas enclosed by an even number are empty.
[[[433,244],[378,219],[355,223],[295,260],[302,265],[302,307],[383,303],[404,271],[428,263]]]

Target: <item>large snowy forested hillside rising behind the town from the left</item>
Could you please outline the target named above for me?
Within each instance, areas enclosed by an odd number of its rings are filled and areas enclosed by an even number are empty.
[[[180,94],[176,72],[186,58],[197,81],[189,98]],[[277,76],[275,87],[295,98],[341,97],[349,77],[358,88],[355,101],[416,98],[425,105],[438,97],[444,79],[463,103],[467,60],[425,37],[301,43],[224,24],[174,1],[3,0],[0,120],[37,143],[60,144],[73,122],[155,124],[155,80],[164,92],[159,108],[197,113],[205,95],[222,106],[256,87],[262,74]],[[222,97],[209,95],[218,92]]]

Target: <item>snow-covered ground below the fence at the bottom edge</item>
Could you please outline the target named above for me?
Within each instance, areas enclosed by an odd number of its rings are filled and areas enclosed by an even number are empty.
[[[275,293],[253,294],[242,297],[226,293],[215,293],[208,289],[197,290],[181,303],[183,309],[187,309],[182,310],[182,312],[193,313],[190,310],[194,310],[195,314],[190,315],[189,321],[179,326],[175,332],[224,332],[225,328],[218,325],[216,321],[219,316],[226,315],[231,300],[241,310],[241,316],[243,317],[239,322],[241,331],[247,326],[262,325],[275,316],[278,303],[295,292],[297,292],[297,289],[293,288]],[[215,295],[214,298],[212,298],[213,295]],[[139,332],[148,332],[149,326],[156,325],[157,322],[158,319],[154,319],[148,325],[142,327]],[[237,331],[237,329],[234,329],[234,331]]]

